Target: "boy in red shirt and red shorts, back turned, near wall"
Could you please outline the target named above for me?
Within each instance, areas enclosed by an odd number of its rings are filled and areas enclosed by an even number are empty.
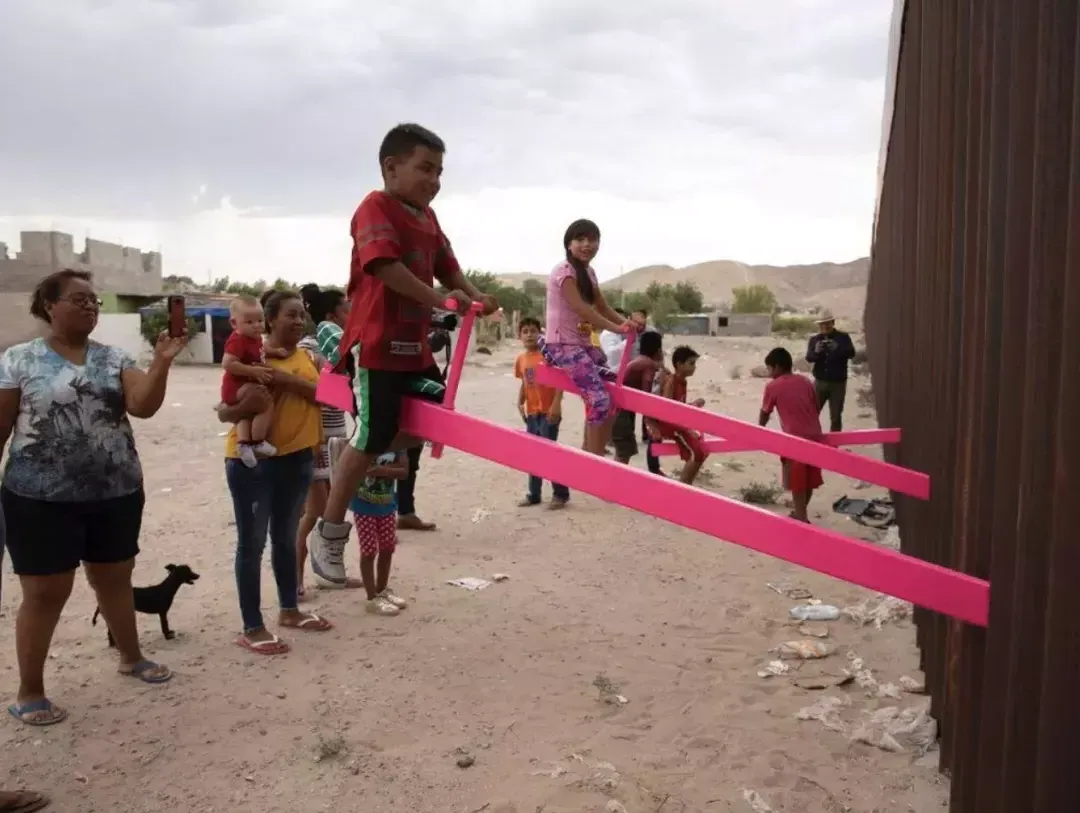
[[[821,441],[818,394],[810,379],[792,371],[792,354],[783,348],[771,350],[765,357],[765,366],[772,380],[765,387],[758,423],[767,425],[775,409],[780,414],[780,428],[788,435]],[[807,505],[814,489],[821,488],[824,483],[821,469],[786,458],[781,458],[780,464],[783,469],[784,488],[792,492],[792,518],[809,523]]]

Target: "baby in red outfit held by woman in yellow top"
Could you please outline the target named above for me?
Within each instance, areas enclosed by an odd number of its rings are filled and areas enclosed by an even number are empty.
[[[240,401],[244,389],[256,384],[269,384],[273,371],[264,364],[265,356],[278,356],[279,350],[264,350],[262,330],[266,320],[259,300],[251,296],[239,296],[229,306],[229,322],[232,333],[225,342],[221,358],[221,401],[230,406]],[[273,404],[261,412],[237,421],[237,443],[240,459],[248,469],[254,469],[258,457],[272,457],[278,449],[267,442],[273,421]]]

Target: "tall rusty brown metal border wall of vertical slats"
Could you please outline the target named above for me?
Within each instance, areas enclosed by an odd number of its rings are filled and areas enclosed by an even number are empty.
[[[865,324],[903,550],[990,581],[919,612],[951,813],[1080,811],[1080,2],[907,0]],[[1078,514],[1074,515],[1072,511]]]

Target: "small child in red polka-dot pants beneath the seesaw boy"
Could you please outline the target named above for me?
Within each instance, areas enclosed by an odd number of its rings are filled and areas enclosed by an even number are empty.
[[[394,480],[408,477],[404,451],[375,460],[349,509],[360,540],[360,575],[367,592],[367,611],[396,615],[408,602],[390,590],[390,565],[397,547],[397,497]]]

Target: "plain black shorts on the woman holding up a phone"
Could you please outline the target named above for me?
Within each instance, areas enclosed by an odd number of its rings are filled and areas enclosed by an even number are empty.
[[[18,575],[56,575],[83,561],[134,559],[145,502],[143,489],[97,502],[49,502],[0,488],[11,567]]]

